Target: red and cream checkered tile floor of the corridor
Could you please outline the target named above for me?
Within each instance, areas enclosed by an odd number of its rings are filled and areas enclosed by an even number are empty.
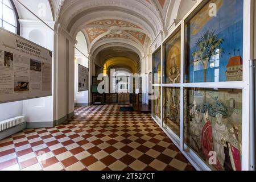
[[[53,128],[0,141],[0,170],[194,170],[150,114],[79,107]]]

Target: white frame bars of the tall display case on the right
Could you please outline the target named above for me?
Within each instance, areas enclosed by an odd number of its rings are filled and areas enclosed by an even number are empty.
[[[250,143],[251,140],[255,142],[253,138],[250,138],[250,124],[249,124],[249,103],[250,103],[250,75],[249,75],[249,60],[252,54],[253,47],[253,26],[252,26],[252,16],[253,16],[253,1],[254,0],[244,0],[243,1],[243,80],[242,81],[232,81],[232,82],[184,82],[184,57],[185,57],[185,23],[187,20],[191,19],[208,1],[200,0],[196,5],[184,16],[183,19],[175,26],[175,28],[170,32],[167,38],[162,42],[160,48],[162,49],[162,78],[161,84],[152,84],[152,89],[156,87],[161,87],[161,118],[154,117],[152,112],[152,119],[161,127],[161,129],[168,135],[168,137],[174,142],[174,144],[179,148],[183,155],[189,160],[189,162],[197,170],[212,170],[200,157],[190,149],[184,143],[184,89],[185,88],[218,88],[218,89],[242,89],[242,170],[250,170]],[[181,72],[180,72],[180,84],[163,84],[163,45],[168,39],[175,35],[177,30],[181,30]],[[155,49],[158,51],[159,47]],[[155,52],[154,52],[155,53]],[[153,55],[154,55],[153,53]],[[154,59],[154,56],[152,56]],[[154,69],[154,61],[152,61],[152,69]],[[152,80],[154,79],[154,72],[152,72]],[[164,87],[178,87],[180,88],[180,139],[170,130],[166,130],[163,127],[163,88]],[[243,104],[245,103],[245,104]],[[154,108],[154,102],[152,102],[152,109]],[[159,121],[160,119],[160,121]],[[254,129],[255,132],[255,129]]]

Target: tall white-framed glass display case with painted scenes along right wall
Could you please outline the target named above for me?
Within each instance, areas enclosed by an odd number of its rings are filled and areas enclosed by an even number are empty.
[[[252,2],[197,1],[152,55],[153,73],[162,73],[153,76],[160,99],[153,97],[152,118],[199,170],[253,167],[245,61],[253,51],[245,11]]]

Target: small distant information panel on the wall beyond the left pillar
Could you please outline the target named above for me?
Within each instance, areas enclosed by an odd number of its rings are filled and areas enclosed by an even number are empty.
[[[79,92],[89,90],[89,69],[79,64]]]

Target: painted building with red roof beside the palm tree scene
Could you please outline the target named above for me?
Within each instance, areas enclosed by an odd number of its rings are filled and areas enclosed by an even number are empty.
[[[240,55],[230,57],[226,66],[226,81],[242,81],[243,80],[243,59]]]

